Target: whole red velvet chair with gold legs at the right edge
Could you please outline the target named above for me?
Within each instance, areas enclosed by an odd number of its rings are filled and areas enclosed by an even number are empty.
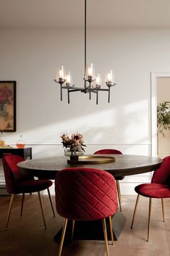
[[[170,157],[163,158],[161,166],[154,171],[153,178],[151,183],[143,183],[135,187],[137,192],[137,200],[135,204],[135,210],[132,218],[132,225],[135,220],[135,214],[137,210],[137,205],[139,202],[140,195],[143,197],[149,197],[149,211],[148,211],[148,238],[149,241],[149,232],[150,232],[150,212],[152,206],[152,198],[160,198],[162,205],[163,213],[163,222],[164,222],[164,209],[163,209],[163,198],[170,197]]]

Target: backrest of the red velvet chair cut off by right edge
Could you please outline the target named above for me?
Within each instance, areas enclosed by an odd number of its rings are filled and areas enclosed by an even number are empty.
[[[154,171],[151,183],[170,186],[170,156],[163,158],[161,166]]]

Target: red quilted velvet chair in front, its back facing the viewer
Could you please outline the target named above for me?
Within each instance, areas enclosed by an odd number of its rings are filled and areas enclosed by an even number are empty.
[[[59,256],[63,246],[67,220],[72,221],[72,236],[75,220],[100,220],[103,222],[103,234],[106,253],[109,248],[106,231],[106,218],[109,217],[111,240],[113,230],[111,215],[117,210],[116,181],[110,173],[91,168],[68,168],[56,175],[56,211],[65,218],[61,235]]]

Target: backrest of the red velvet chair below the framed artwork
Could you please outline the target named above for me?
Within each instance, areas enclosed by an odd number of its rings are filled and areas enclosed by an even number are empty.
[[[24,159],[15,154],[7,154],[2,157],[6,189],[9,194],[17,193],[17,183],[34,179],[32,176],[20,173],[17,163],[22,161]]]

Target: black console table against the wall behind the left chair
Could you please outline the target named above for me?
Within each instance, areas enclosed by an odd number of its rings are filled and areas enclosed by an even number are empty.
[[[23,149],[7,149],[7,148],[0,148],[0,194],[7,194],[6,188],[5,188],[5,179],[4,179],[4,170],[1,158],[4,154],[17,154],[20,157],[23,157],[25,160],[31,160],[32,159],[32,148],[31,147],[25,147]]]

